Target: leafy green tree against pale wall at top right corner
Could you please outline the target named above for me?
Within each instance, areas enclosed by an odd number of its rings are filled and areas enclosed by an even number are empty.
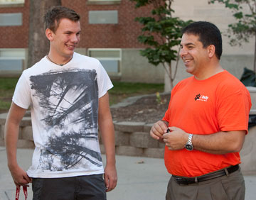
[[[256,0],[208,0],[209,4],[218,1],[233,11],[236,23],[228,25],[230,45],[248,43],[255,38],[253,70],[256,72]]]

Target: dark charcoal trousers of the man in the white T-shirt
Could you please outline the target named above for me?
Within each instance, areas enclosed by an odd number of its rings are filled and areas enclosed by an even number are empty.
[[[33,200],[106,200],[102,174],[65,177],[33,178]]]

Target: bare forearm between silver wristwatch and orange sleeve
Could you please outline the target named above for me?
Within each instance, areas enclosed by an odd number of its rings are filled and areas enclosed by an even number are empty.
[[[210,135],[193,135],[196,150],[213,154],[239,152],[245,138],[245,131],[218,132]]]

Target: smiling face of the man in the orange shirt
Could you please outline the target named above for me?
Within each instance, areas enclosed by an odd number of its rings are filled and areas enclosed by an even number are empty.
[[[200,77],[208,63],[208,48],[198,40],[198,35],[184,33],[181,38],[180,56],[186,66],[186,72]]]

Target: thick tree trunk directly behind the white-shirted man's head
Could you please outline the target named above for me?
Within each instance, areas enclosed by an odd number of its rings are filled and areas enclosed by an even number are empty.
[[[30,0],[28,67],[41,60],[49,50],[49,41],[43,24],[43,16],[51,6],[60,6],[61,0]]]

